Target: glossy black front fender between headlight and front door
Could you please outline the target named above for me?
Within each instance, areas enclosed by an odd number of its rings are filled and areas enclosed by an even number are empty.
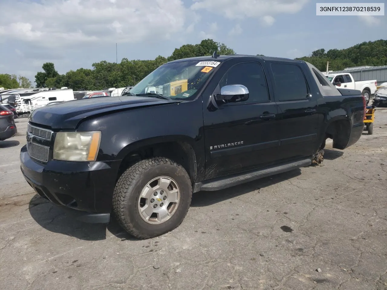
[[[200,158],[205,147],[201,98],[96,116],[82,122],[78,130],[102,132],[97,161],[123,160],[141,147],[180,142],[193,148],[198,178],[204,172],[204,158]]]

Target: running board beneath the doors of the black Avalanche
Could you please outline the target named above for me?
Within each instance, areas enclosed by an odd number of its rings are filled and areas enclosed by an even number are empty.
[[[249,181],[253,181],[263,177],[279,174],[286,171],[291,171],[293,169],[297,169],[300,167],[306,167],[310,164],[312,164],[311,159],[302,159],[295,162],[288,162],[288,163],[283,163],[281,165],[274,165],[271,167],[267,167],[265,169],[247,171],[247,172],[243,172],[242,174],[235,174],[232,176],[211,179],[203,183],[195,183],[194,192],[198,192],[201,190],[203,191],[220,190],[220,189],[228,188],[238,184],[247,183]]]

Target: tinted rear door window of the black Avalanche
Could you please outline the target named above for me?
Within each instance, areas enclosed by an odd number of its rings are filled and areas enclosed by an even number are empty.
[[[280,102],[304,100],[308,87],[301,68],[288,63],[272,63],[276,97]]]

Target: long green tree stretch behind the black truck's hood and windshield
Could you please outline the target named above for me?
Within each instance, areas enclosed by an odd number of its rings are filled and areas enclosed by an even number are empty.
[[[128,60],[120,63],[100,61],[92,64],[92,69],[79,68],[60,75],[53,63],[43,64],[43,72],[35,76],[36,87],[68,87],[73,90],[101,90],[110,87],[126,87],[137,84],[160,65],[181,58],[212,55],[233,55],[235,51],[224,43],[204,39],[199,44],[185,44],[176,48],[167,58],[158,56],[154,60]]]

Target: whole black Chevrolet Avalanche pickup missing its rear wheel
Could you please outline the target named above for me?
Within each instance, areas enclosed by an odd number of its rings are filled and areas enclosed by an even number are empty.
[[[305,61],[188,58],[161,65],[124,96],[34,110],[21,171],[80,220],[108,223],[114,213],[146,239],[178,227],[193,192],[321,161],[327,138],[337,149],[353,145],[364,115],[360,91],[336,89]]]

